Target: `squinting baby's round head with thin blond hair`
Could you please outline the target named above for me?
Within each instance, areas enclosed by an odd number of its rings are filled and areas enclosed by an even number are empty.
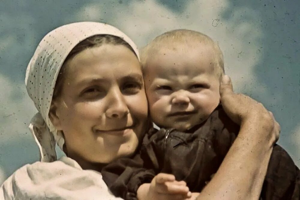
[[[159,127],[188,130],[219,104],[223,54],[207,35],[166,32],[143,49],[141,62],[149,111]]]

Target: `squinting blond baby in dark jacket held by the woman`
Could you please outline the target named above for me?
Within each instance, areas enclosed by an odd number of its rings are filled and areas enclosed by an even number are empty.
[[[132,158],[103,168],[103,179],[124,199],[155,191],[189,198],[210,181],[239,132],[220,104],[223,54],[207,35],[174,30],[148,44],[141,62],[150,115],[161,129],[150,129]],[[299,178],[292,159],[275,145],[261,198],[299,199]],[[170,191],[170,184],[178,189]]]

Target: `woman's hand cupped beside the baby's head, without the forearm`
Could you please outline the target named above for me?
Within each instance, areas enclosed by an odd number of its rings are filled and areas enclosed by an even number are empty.
[[[244,123],[255,123],[265,130],[265,138],[273,144],[278,140],[280,126],[273,114],[261,103],[247,95],[235,94],[229,76],[224,75],[220,84],[220,99],[228,117],[243,126]]]

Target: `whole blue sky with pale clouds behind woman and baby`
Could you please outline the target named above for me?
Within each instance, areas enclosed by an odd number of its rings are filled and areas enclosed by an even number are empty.
[[[0,1],[0,183],[38,161],[28,129],[37,112],[24,78],[40,40],[77,21],[109,23],[143,47],[172,29],[192,29],[217,41],[236,92],[274,113],[280,144],[300,166],[299,0]]]

